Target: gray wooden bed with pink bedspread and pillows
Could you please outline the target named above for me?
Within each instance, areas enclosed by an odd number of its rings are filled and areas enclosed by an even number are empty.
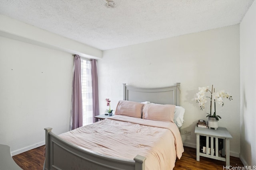
[[[174,167],[176,157],[180,158],[184,151],[179,126],[169,121],[155,121],[148,113],[160,104],[179,106],[180,83],[164,88],[137,88],[123,84],[123,89],[124,98],[118,102],[117,115],[61,135],[54,134],[50,127],[45,128],[45,170]],[[150,104],[144,104],[149,101]],[[127,115],[126,108],[131,104],[144,108],[145,113],[138,115],[139,112],[132,109],[129,114],[136,116]]]

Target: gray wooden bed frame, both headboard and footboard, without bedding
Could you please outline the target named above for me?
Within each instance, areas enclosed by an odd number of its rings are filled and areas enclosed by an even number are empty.
[[[150,101],[157,104],[180,105],[180,83],[163,88],[138,88],[124,86],[124,100]],[[134,160],[124,160],[97,154],[64,141],[45,128],[44,170],[144,170],[145,156],[137,155]]]

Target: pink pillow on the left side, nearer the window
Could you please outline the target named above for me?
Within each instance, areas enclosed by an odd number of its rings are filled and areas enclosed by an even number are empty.
[[[126,115],[141,118],[144,104],[131,102],[128,100],[120,100],[116,106],[115,115]]]

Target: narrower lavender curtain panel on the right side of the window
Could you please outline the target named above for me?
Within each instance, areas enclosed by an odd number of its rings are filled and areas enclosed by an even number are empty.
[[[93,104],[93,117],[100,114],[99,111],[99,92],[98,92],[98,74],[97,74],[97,61],[95,59],[91,60],[92,64],[92,104]],[[93,122],[97,119],[94,118]]]

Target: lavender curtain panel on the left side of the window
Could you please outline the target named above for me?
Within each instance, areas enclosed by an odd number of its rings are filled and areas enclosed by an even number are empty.
[[[73,106],[72,106],[72,129],[83,125],[82,108],[82,84],[81,84],[81,60],[79,55],[74,58],[74,81],[73,81]]]

